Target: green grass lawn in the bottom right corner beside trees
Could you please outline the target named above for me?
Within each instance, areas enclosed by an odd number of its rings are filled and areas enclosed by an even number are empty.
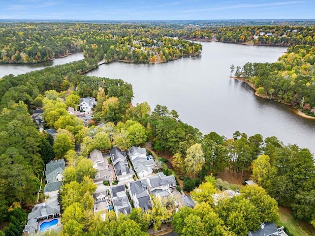
[[[314,228],[312,228],[307,223],[303,223],[294,219],[289,209],[285,207],[279,207],[279,215],[280,220],[277,222],[277,225],[286,227],[294,236],[315,235]]]

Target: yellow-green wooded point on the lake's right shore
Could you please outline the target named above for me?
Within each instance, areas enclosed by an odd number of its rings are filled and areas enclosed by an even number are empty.
[[[275,63],[248,62],[242,68],[237,66],[235,76],[250,83],[258,95],[315,117],[314,52],[314,46],[292,46]]]

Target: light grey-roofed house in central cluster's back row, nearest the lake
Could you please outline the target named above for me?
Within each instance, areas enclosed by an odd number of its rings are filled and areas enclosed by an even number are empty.
[[[133,146],[129,149],[128,153],[133,168],[139,177],[152,175],[152,168],[155,166],[155,162],[151,155],[147,156],[146,148]]]

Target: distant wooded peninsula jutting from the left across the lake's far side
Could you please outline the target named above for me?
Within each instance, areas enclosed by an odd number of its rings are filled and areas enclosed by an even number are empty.
[[[200,44],[173,36],[171,28],[148,25],[0,23],[0,63],[38,63],[75,52],[106,63],[148,63],[201,53]]]

